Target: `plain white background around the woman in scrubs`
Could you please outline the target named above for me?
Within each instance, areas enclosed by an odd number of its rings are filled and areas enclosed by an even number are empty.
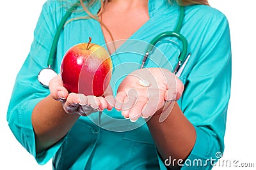
[[[15,76],[28,55],[44,1],[1,1],[0,169],[51,169],[51,161],[45,166],[36,164],[33,157],[15,139],[6,122]],[[232,93],[228,108],[225,153],[221,160],[238,160],[237,165],[243,162],[254,163],[255,168],[256,90],[253,82],[256,78],[256,3],[253,0],[211,0],[209,3],[227,16],[232,39]],[[214,169],[242,168],[216,166]]]

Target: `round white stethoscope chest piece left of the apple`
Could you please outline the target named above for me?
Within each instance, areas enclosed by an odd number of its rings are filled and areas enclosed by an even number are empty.
[[[45,68],[42,69],[39,73],[38,73],[38,81],[44,85],[45,87],[49,86],[50,81],[52,80],[52,78],[54,78],[54,76],[56,76],[57,73],[51,69],[51,68]]]

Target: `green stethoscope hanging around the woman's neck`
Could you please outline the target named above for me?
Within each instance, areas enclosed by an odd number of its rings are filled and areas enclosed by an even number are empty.
[[[54,64],[54,60],[56,57],[58,39],[60,38],[60,34],[61,34],[61,31],[63,30],[63,26],[67,22],[67,19],[68,19],[68,17],[70,17],[71,13],[74,10],[76,10],[79,5],[80,5],[79,3],[74,4],[73,6],[71,6],[71,8],[68,9],[67,13],[65,13],[64,17],[62,18],[62,20],[60,22],[60,25],[57,28],[54,39],[52,41],[52,46],[51,46],[49,58],[47,61],[48,67],[42,69],[38,73],[38,81],[45,87],[48,87],[51,79],[57,75],[56,71],[54,71],[54,69],[52,69],[52,66]],[[187,55],[187,51],[188,51],[187,39],[182,34],[180,34],[180,29],[182,27],[183,19],[184,19],[184,6],[180,6],[180,16],[179,16],[179,21],[176,26],[176,29],[174,31],[162,32],[161,34],[158,34],[154,39],[152,39],[152,41],[150,42],[150,45],[148,45],[147,52],[145,53],[143,60],[141,62],[141,68],[143,68],[145,66],[145,64],[147,64],[146,62],[147,62],[148,56],[149,56],[150,52],[152,52],[154,46],[156,45],[156,43],[158,41],[160,41],[161,39],[166,38],[166,37],[175,37],[182,42],[182,51],[180,52],[179,62],[177,63],[173,73],[176,74],[176,76],[180,76],[180,74],[182,73],[182,71],[184,69],[184,66],[188,62],[188,59],[191,55],[191,53],[189,53]]]

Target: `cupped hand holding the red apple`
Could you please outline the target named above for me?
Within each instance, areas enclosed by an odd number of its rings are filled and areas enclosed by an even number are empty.
[[[60,74],[58,74],[50,81],[49,89],[51,97],[57,101],[61,101],[63,109],[70,114],[86,116],[104,109],[112,110],[115,105],[115,99],[110,86],[106,89],[104,97],[68,93],[68,90],[63,87]]]

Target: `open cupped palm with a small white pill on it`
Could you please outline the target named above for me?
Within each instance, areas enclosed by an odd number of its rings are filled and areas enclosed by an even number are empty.
[[[167,69],[138,69],[120,83],[115,108],[132,122],[163,109],[166,101],[177,101],[184,90],[182,82]]]

